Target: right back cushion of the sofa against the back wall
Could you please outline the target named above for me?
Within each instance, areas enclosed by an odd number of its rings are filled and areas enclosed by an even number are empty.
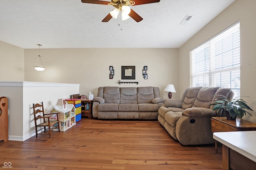
[[[137,87],[137,102],[141,103],[152,103],[154,99],[154,88],[153,87]]]

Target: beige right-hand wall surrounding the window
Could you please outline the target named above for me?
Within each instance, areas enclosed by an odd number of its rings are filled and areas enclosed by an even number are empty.
[[[210,21],[203,29],[179,48],[179,72],[180,89],[190,86],[190,56],[189,52],[207,39],[240,20],[240,56],[241,56],[241,96],[245,98],[249,106],[256,111],[256,0],[236,0],[214,20]],[[253,117],[243,117],[256,122],[256,114]]]

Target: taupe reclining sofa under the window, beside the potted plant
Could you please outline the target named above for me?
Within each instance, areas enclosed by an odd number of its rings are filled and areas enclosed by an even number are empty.
[[[210,104],[220,97],[214,95],[232,99],[234,92],[229,88],[218,87],[187,88],[181,100],[164,100],[164,106],[158,110],[158,121],[182,145],[214,143],[211,117],[225,116],[224,111],[216,113],[212,110]]]

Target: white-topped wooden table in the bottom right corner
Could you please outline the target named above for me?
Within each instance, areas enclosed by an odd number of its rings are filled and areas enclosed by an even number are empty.
[[[223,170],[256,170],[256,131],[215,132],[222,143]]]

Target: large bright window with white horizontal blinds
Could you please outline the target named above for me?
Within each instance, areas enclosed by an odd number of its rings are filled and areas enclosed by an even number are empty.
[[[190,86],[231,88],[240,96],[240,23],[190,51]]]

